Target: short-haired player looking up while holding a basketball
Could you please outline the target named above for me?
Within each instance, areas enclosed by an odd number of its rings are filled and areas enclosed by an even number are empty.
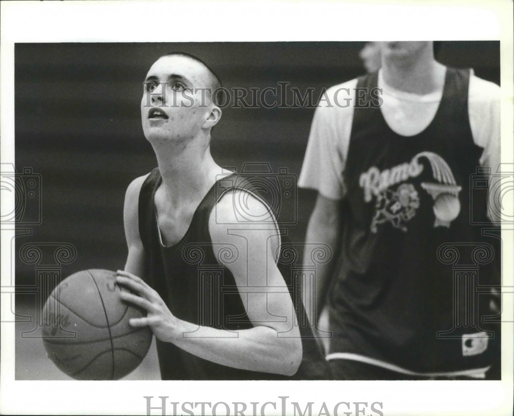
[[[284,291],[273,213],[211,156],[219,79],[172,53],[144,85],[141,121],[158,168],[126,191],[128,257],[117,280],[133,292],[122,298],[147,311],[130,323],[152,329],[162,378],[326,378],[316,343],[302,346],[301,301],[295,309]]]

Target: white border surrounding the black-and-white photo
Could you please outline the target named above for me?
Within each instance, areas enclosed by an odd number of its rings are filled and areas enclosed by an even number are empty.
[[[512,163],[512,3],[307,1],[65,1],[1,3],[1,157],[14,164],[14,44],[24,42],[209,42],[500,40],[502,162]],[[380,16],[372,25],[366,17]],[[169,19],[170,30],[162,28]],[[377,21],[374,19],[374,21]],[[210,30],[215,26],[216,30]],[[310,30],[305,30],[310,28]],[[365,30],[363,30],[365,28]],[[506,201],[511,204],[512,201]],[[9,205],[11,204],[11,205]],[[13,201],[2,200],[2,210]],[[10,211],[8,211],[10,212]],[[512,283],[513,230],[503,229],[504,285]],[[11,282],[13,230],[2,229],[2,288]],[[510,280],[508,280],[510,279]],[[504,314],[512,320],[512,298]],[[9,299],[9,298],[7,298]],[[4,296],[2,296],[4,300]],[[2,302],[2,316],[10,304]],[[146,414],[143,396],[168,402],[381,402],[384,416],[512,414],[512,323],[502,325],[503,380],[478,382],[31,382],[14,379],[14,324],[2,322],[3,414]],[[152,406],[156,405],[153,402]],[[248,405],[250,408],[250,405]],[[268,407],[269,414],[274,414]],[[342,409],[342,408],[341,408]],[[171,407],[167,414],[171,413]],[[277,410],[279,411],[279,410]],[[342,411],[342,410],[341,410]],[[152,414],[160,414],[159,410]],[[313,413],[314,414],[314,413]],[[316,414],[318,412],[316,411]],[[322,413],[323,414],[323,413]]]

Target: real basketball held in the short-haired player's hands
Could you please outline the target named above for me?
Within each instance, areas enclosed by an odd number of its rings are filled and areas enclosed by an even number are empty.
[[[116,380],[131,373],[152,342],[148,327],[132,328],[130,318],[146,312],[120,299],[126,288],[116,273],[77,272],[64,279],[43,308],[43,343],[48,357],[78,380]]]

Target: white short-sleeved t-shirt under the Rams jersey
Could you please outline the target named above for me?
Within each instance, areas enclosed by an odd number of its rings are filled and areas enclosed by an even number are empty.
[[[298,184],[316,189],[332,200],[344,197],[344,165],[348,154],[355,103],[357,79],[327,90],[316,108]],[[380,107],[389,127],[402,136],[414,136],[430,124],[443,95],[439,91],[417,95],[406,93],[384,83]],[[484,149],[482,166],[496,172],[500,163],[500,87],[476,77],[469,80],[468,113],[474,142]],[[448,137],[451,140],[451,137]]]

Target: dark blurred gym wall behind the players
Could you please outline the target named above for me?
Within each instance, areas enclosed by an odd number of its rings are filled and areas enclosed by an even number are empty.
[[[84,268],[124,265],[122,208],[127,185],[156,166],[140,122],[142,82],[164,53],[185,51],[207,62],[228,89],[322,88],[363,73],[363,42],[276,43],[74,43],[15,46],[15,166],[41,175],[42,223],[16,240],[70,243],[75,262],[65,277]],[[440,62],[473,67],[499,83],[499,42],[442,42]],[[249,101],[249,98],[247,98]],[[314,102],[316,104],[316,102]],[[314,106],[223,108],[213,131],[212,153],[225,167],[265,162],[273,172],[300,173]],[[315,194],[298,191],[301,242]],[[15,253],[16,283],[31,284],[34,265]]]

